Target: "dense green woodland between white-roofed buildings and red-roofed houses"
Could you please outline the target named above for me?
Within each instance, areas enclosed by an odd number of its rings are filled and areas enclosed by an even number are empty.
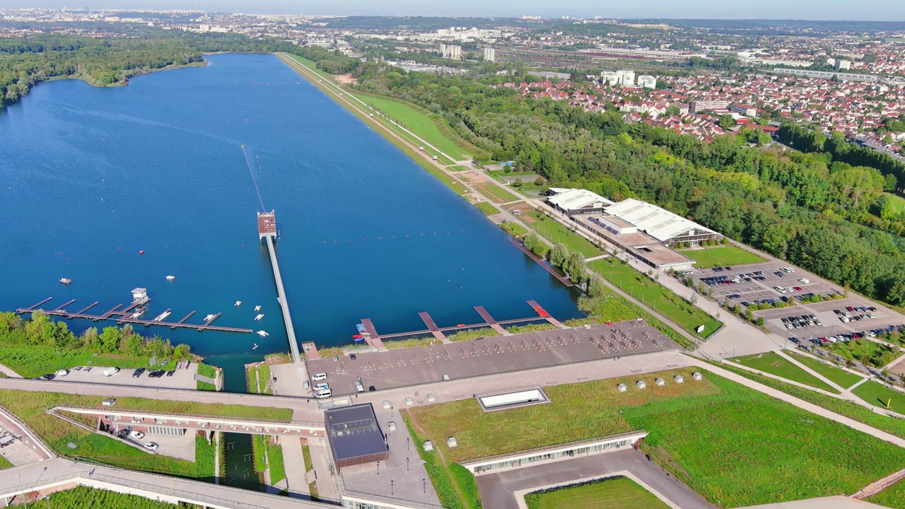
[[[900,180],[863,166],[867,160],[750,147],[749,133],[703,143],[626,125],[617,112],[492,86],[505,79],[391,69],[368,73],[357,87],[442,114],[491,158],[514,160],[550,186],[640,197],[858,292],[905,303],[897,236],[905,216],[883,194]]]

